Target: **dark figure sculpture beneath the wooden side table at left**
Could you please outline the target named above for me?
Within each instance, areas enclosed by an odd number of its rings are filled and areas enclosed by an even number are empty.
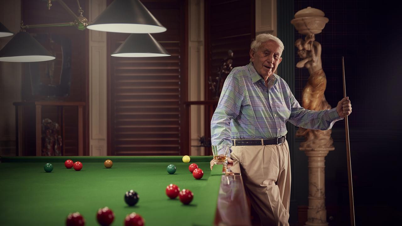
[[[42,156],[61,156],[62,137],[59,124],[50,119],[42,120]]]

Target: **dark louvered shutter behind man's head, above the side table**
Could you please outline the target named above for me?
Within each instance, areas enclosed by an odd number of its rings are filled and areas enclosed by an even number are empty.
[[[220,92],[215,97],[208,79],[211,77],[216,82],[218,69],[223,59],[228,57],[228,50],[233,51],[233,68],[249,63],[250,43],[255,39],[255,1],[206,0],[205,21],[205,99],[215,100],[219,99]],[[222,78],[218,89],[222,88],[225,78]]]

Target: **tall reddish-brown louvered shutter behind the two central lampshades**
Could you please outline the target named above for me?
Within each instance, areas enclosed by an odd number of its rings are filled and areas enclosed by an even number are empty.
[[[180,107],[187,99],[185,1],[142,1],[168,30],[152,34],[168,57],[118,58],[109,64],[111,155],[180,155]],[[108,35],[109,54],[128,34]]]

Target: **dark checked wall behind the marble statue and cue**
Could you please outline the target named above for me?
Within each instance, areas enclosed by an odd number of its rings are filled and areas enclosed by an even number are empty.
[[[329,22],[316,41],[322,45],[322,65],[327,76],[325,92],[335,107],[343,97],[342,61],[345,57],[347,96],[353,113],[349,134],[355,219],[357,225],[394,224],[401,216],[397,181],[402,113],[401,32],[398,12],[390,2],[295,0],[294,13],[311,6],[324,11]],[[281,14],[278,13],[278,17]],[[279,20],[279,19],[278,19]],[[295,40],[304,38],[295,31]],[[294,48],[288,46],[287,48]],[[286,48],[286,46],[285,46]],[[295,62],[300,59],[295,54]],[[295,68],[294,94],[301,103],[307,69]],[[332,129],[335,150],[326,157],[326,206],[330,225],[349,223],[349,196],[345,123]],[[293,146],[292,189],[299,207],[308,205],[308,158],[299,151],[304,139],[295,138]],[[294,208],[294,206],[293,206]],[[302,225],[303,216],[291,213],[291,222]]]

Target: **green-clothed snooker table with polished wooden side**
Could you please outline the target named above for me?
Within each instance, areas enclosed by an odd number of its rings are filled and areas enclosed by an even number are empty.
[[[69,213],[80,212],[85,225],[98,225],[99,208],[109,207],[115,214],[111,225],[124,225],[131,212],[140,214],[145,225],[250,225],[250,214],[240,175],[222,172],[222,165],[211,171],[212,156],[27,156],[0,157],[0,225],[65,225]],[[80,161],[81,171],[66,168],[64,161]],[[112,168],[103,162],[113,161]],[[53,164],[46,173],[45,163]],[[197,163],[204,172],[196,180],[188,166]],[[166,171],[169,164],[176,173]],[[227,172],[230,169],[226,170]],[[178,197],[170,199],[165,189],[170,183],[194,193],[184,205]],[[135,206],[124,201],[126,191],[139,195]]]

